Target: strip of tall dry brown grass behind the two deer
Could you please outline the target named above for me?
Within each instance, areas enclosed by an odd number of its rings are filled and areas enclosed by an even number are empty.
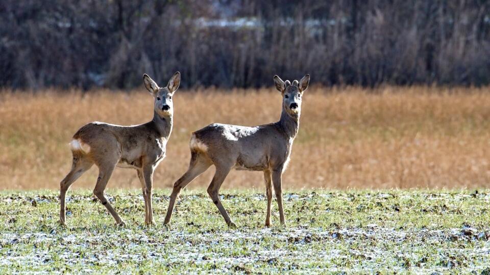
[[[169,187],[186,170],[190,132],[213,122],[258,125],[279,118],[273,89],[179,91],[167,157],[155,174]],[[0,188],[58,188],[68,172],[68,142],[90,121],[139,124],[152,97],[97,91],[0,93]],[[189,187],[206,186],[213,168]],[[93,187],[92,168],[74,187]],[[264,188],[262,174],[233,171],[224,188]],[[310,88],[285,188],[477,187],[490,182],[490,94],[431,87]],[[116,169],[109,187],[139,187],[134,170]]]

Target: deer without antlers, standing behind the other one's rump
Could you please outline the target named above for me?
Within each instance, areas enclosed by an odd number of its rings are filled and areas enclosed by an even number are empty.
[[[126,226],[105,196],[105,188],[115,167],[135,169],[143,191],[145,225],[155,225],[152,207],[153,173],[165,157],[165,149],[173,125],[173,101],[180,85],[180,72],[176,72],[164,88],[147,74],[143,84],[154,97],[153,119],[150,122],[120,126],[91,122],[82,126],[69,143],[72,153],[70,172],[60,183],[60,224],[65,223],[65,196],[68,188],[95,164],[99,177],[93,194],[100,200],[116,224]]]

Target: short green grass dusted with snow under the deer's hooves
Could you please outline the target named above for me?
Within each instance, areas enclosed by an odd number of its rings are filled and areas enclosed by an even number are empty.
[[[430,190],[287,193],[286,226],[264,228],[262,192],[224,190],[238,229],[205,191],[184,191],[170,228],[169,194],[157,190],[157,226],[144,226],[140,191],[109,190],[127,223],[90,191],[68,193],[57,225],[56,191],[0,193],[0,273],[475,273],[490,271],[490,192]]]

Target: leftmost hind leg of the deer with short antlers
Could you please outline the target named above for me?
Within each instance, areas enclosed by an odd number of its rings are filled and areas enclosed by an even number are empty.
[[[187,169],[187,172],[185,172],[185,174],[174,183],[174,189],[172,190],[170,202],[168,203],[167,214],[165,216],[165,221],[163,222],[164,225],[170,223],[170,218],[172,217],[172,212],[174,211],[175,201],[179,197],[180,190],[187,186],[187,184],[189,184],[197,176],[204,173],[204,171],[206,171],[210,166],[211,164],[203,157],[200,157],[199,153],[192,152],[189,169]]]

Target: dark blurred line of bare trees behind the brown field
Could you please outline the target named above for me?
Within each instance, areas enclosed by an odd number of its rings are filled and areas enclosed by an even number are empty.
[[[0,87],[487,85],[486,0],[2,0]]]

